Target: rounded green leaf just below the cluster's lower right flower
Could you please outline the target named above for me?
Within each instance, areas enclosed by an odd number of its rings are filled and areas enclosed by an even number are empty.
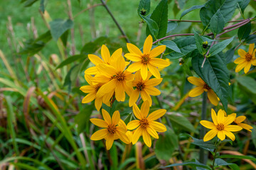
[[[164,135],[160,134],[159,139],[156,140],[156,157],[168,161],[176,149],[178,149],[178,137],[174,130],[167,128]]]

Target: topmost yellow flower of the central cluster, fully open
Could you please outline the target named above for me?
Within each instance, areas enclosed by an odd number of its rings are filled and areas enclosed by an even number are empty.
[[[130,53],[124,55],[127,59],[133,61],[134,63],[131,64],[127,71],[128,72],[137,72],[141,70],[142,79],[146,79],[148,75],[148,69],[151,74],[154,75],[156,78],[160,78],[159,70],[156,67],[167,67],[169,66],[169,62],[164,59],[156,58],[159,56],[164,50],[166,50],[165,45],[159,45],[151,50],[153,39],[151,35],[149,35],[143,46],[143,53],[139,50],[138,47],[131,43],[127,43],[127,48]]]

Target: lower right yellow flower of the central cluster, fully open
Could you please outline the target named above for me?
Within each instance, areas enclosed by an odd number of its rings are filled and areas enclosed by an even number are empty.
[[[142,135],[146,146],[151,147],[150,135],[158,139],[159,135],[157,132],[166,131],[166,127],[163,124],[154,121],[158,118],[161,118],[166,113],[166,110],[159,109],[149,114],[149,101],[144,101],[144,103],[142,103],[141,110],[139,110],[138,106],[134,104],[132,111],[136,118],[139,119],[132,120],[127,125],[128,130],[136,129],[132,136],[132,144],[135,144],[139,140],[139,137]]]

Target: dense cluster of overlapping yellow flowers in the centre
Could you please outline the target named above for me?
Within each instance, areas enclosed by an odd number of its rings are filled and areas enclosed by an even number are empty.
[[[113,141],[120,139],[122,142],[135,144],[142,135],[145,144],[151,147],[151,137],[159,138],[157,132],[165,132],[166,127],[154,120],[161,118],[166,110],[160,109],[149,114],[149,108],[152,105],[151,96],[161,94],[155,86],[162,81],[159,68],[169,66],[169,62],[161,58],[166,49],[165,45],[159,45],[151,50],[153,39],[149,35],[143,47],[143,52],[131,43],[127,43],[129,53],[125,54],[128,60],[126,62],[122,56],[122,48],[110,51],[105,45],[101,48],[101,57],[97,55],[88,55],[89,60],[95,64],[85,70],[85,80],[89,85],[82,86],[81,91],[86,93],[82,103],[89,103],[95,100],[95,108],[100,111],[102,103],[111,106],[114,100],[125,101],[126,94],[129,96],[129,106],[132,107],[133,113],[139,120],[132,120],[128,125],[120,119],[118,111],[115,111],[110,118],[110,114],[102,109],[104,120],[90,119],[91,122],[103,129],[95,132],[91,140],[106,140],[106,147],[110,149]],[[129,66],[129,67],[128,67]],[[155,78],[151,78],[152,75]],[[139,95],[142,97],[142,108],[139,109],[136,102]],[[129,130],[133,130],[132,132]]]

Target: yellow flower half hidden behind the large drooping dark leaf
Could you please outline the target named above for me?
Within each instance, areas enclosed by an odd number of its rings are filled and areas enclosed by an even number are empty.
[[[218,105],[217,95],[214,93],[213,89],[211,89],[210,86],[208,86],[208,84],[205,83],[205,81],[203,81],[201,78],[197,78],[197,77],[188,77],[188,81],[191,84],[196,85],[196,87],[194,89],[189,91],[188,96],[196,97],[196,96],[203,94],[203,91],[206,91],[207,96],[210,100],[210,103],[212,103],[214,106]]]

